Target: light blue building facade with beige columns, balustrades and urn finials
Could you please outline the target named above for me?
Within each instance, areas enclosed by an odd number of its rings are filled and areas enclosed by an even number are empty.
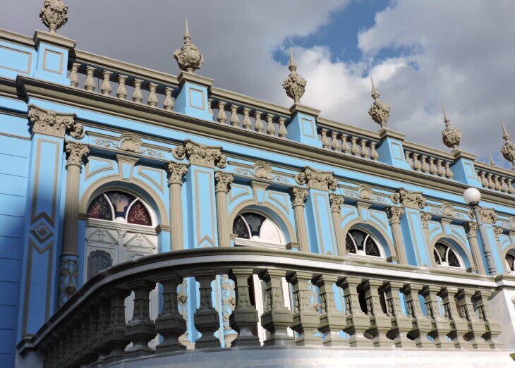
[[[322,118],[293,56],[290,108],[222,90],[187,25],[177,77],[90,54],[47,2],[49,32],[0,30],[2,367],[241,345],[509,364],[515,173],[447,116],[450,152],[389,130],[373,84],[378,132]]]

